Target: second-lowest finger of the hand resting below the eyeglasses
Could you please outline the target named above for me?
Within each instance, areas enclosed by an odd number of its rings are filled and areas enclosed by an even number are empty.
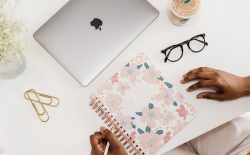
[[[187,91],[192,92],[200,88],[212,88],[212,87],[218,88],[220,86],[215,80],[202,80],[188,87]]]

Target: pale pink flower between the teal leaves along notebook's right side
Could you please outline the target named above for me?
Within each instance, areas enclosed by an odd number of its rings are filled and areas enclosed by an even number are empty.
[[[157,101],[163,101],[164,105],[169,106],[174,102],[172,94],[173,94],[172,89],[160,88],[160,93],[155,95],[153,99]]]

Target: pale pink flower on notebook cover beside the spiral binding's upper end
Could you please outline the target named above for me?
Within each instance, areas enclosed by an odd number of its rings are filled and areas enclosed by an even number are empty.
[[[106,105],[110,112],[117,112],[120,109],[122,99],[118,94],[110,93],[106,97]]]

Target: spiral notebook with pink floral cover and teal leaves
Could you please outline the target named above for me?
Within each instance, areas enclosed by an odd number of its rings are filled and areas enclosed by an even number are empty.
[[[195,107],[140,54],[91,95],[90,106],[129,154],[153,155],[196,115]]]

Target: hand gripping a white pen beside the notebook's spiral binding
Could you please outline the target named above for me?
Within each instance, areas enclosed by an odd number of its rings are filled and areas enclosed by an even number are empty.
[[[107,143],[110,146],[108,148],[108,155],[127,155],[126,150],[110,130],[101,127],[99,132],[95,132],[90,136],[91,143],[91,155],[104,155]]]

